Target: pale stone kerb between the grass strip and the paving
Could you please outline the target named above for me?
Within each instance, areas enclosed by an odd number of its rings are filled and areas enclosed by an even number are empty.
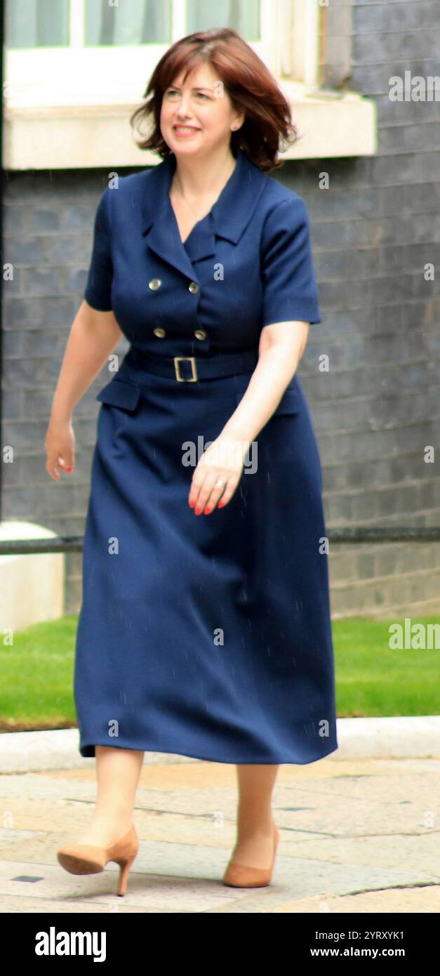
[[[426,759],[440,757],[440,715],[339,718],[335,759]],[[95,759],[79,750],[78,729],[0,734],[0,773],[91,768]],[[171,752],[145,752],[144,762],[199,762]]]

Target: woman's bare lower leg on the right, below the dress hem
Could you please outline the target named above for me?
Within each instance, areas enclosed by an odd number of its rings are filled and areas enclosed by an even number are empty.
[[[272,791],[279,766],[237,765],[237,842],[232,858],[249,868],[269,868],[273,855]]]

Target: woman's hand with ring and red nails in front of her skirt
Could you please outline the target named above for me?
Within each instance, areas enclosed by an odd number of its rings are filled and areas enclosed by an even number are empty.
[[[196,515],[202,511],[208,515],[216,506],[227,505],[240,481],[248,448],[248,441],[220,434],[204,451],[192,475],[188,497],[188,505],[195,506]],[[218,480],[223,484],[215,487]]]

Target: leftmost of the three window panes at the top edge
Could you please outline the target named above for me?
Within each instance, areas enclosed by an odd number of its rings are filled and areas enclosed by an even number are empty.
[[[8,0],[6,36],[9,48],[66,47],[69,0]]]

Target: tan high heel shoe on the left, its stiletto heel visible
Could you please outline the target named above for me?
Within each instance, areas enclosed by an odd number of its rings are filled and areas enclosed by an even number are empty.
[[[125,895],[129,871],[138,851],[138,834],[135,825],[132,824],[130,831],[109,847],[98,847],[95,844],[68,844],[60,847],[57,857],[61,868],[70,874],[99,874],[109,861],[115,861],[121,869],[117,894]]]

